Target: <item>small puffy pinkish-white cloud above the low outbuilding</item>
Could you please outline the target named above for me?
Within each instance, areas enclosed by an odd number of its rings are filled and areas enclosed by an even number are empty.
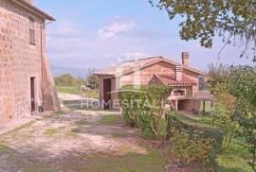
[[[98,36],[100,38],[111,39],[117,37],[119,33],[128,31],[136,26],[133,21],[119,21],[119,16],[115,16],[115,19],[117,21],[114,23],[111,23],[108,26],[103,26],[99,29]]]

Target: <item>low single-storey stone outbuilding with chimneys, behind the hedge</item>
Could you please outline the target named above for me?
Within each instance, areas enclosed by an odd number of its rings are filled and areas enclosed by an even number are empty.
[[[199,112],[200,102],[212,97],[199,91],[199,77],[206,77],[206,74],[190,67],[189,61],[189,53],[183,52],[181,64],[155,57],[125,61],[97,72],[101,107],[119,109],[118,90],[123,86],[162,84],[174,88],[169,100],[176,111]]]

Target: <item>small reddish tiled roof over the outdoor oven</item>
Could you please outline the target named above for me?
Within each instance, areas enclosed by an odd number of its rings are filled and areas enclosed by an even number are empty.
[[[192,86],[196,85],[196,82],[183,74],[180,81],[175,79],[174,74],[155,74],[155,77],[158,78],[164,85],[168,86]]]

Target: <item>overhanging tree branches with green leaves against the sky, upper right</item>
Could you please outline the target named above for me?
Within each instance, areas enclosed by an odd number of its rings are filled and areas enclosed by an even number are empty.
[[[159,9],[167,11],[170,20],[180,15],[183,20],[179,34],[182,40],[200,40],[210,48],[212,38],[218,35],[226,43],[245,45],[252,43],[256,60],[256,1],[255,0],[149,0]],[[156,2],[155,2],[156,1]],[[241,56],[245,54],[243,51]]]

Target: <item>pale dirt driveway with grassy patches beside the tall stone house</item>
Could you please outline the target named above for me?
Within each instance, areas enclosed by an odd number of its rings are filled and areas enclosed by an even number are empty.
[[[166,160],[111,112],[55,114],[0,136],[0,171],[163,171]]]

